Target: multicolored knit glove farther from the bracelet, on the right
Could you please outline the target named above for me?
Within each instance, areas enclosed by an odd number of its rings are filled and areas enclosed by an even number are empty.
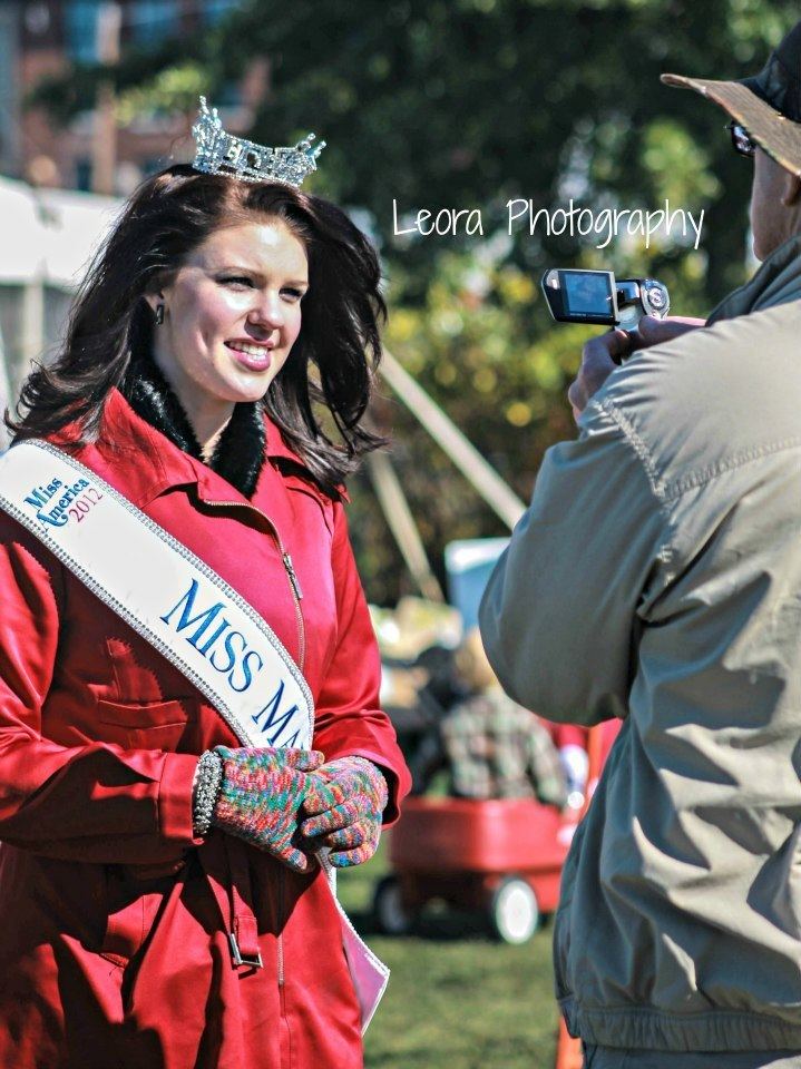
[[[303,800],[307,820],[301,824],[304,849],[329,847],[336,869],[361,865],[375,853],[387,781],[367,757],[338,757],[312,773]]]

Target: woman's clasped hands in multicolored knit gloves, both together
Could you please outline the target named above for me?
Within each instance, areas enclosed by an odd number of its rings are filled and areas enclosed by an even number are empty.
[[[322,849],[334,867],[375,852],[387,782],[364,757],[325,764],[319,751],[217,746],[222,779],[212,815],[221,831],[305,872]]]

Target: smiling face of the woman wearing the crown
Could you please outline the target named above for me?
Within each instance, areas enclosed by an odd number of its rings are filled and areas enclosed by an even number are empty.
[[[215,231],[147,296],[154,310],[164,304],[154,359],[196,430],[264,396],[300,333],[307,288],[303,243],[268,218]]]

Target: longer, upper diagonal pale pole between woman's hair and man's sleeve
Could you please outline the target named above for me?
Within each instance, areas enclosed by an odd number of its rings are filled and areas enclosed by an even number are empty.
[[[412,415],[420,421],[468,482],[511,530],[526,511],[526,506],[515,491],[504,482],[495,468],[487,463],[453,421],[385,349],[379,371]]]

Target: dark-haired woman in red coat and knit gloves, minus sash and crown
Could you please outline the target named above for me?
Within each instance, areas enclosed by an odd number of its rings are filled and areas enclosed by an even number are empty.
[[[343,510],[379,444],[360,425],[378,286],[333,205],[172,167],[23,388],[18,442],[71,453],[270,625],[311,688],[315,753],[243,747],[0,513],[0,1065],[362,1063],[315,852],[364,860],[408,790]]]

